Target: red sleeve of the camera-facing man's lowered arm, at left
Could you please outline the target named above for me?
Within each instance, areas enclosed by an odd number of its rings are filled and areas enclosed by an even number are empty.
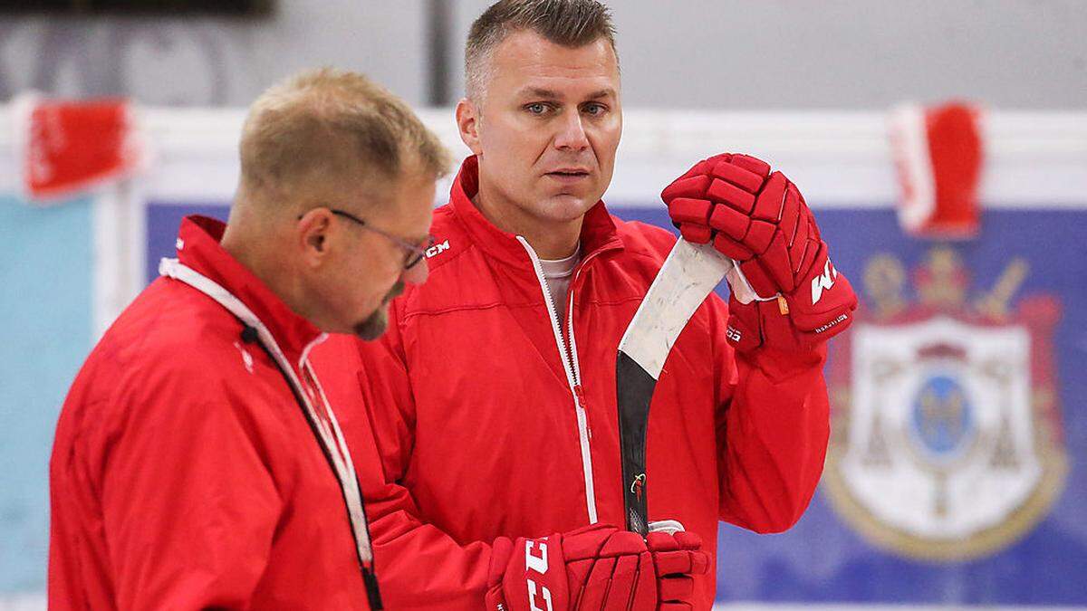
[[[337,414],[343,414],[340,422],[362,487],[385,607],[479,609],[490,543],[461,545],[427,523],[402,484],[414,442],[415,407],[398,304],[390,306],[389,328],[382,339],[337,339],[315,356],[315,363],[324,367],[318,373],[325,391],[335,394],[329,396]]]

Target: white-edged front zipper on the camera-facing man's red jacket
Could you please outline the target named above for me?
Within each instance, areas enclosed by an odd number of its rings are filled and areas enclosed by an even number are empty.
[[[576,282],[577,276],[572,278],[570,284],[570,303],[567,304],[567,329],[570,333],[570,347],[567,351],[566,341],[562,337],[562,329],[560,328],[559,316],[554,309],[554,300],[551,298],[551,291],[547,288],[547,279],[544,276],[544,266],[540,265],[539,257],[536,255],[536,251],[528,244],[528,240],[517,236],[517,241],[521,246],[525,248],[528,252],[528,258],[533,262],[533,270],[536,272],[536,279],[539,282],[540,290],[544,292],[544,302],[547,304],[548,319],[551,321],[551,331],[554,333],[554,341],[559,347],[559,353],[562,357],[562,366],[566,372],[566,383],[570,385],[570,392],[574,398],[574,413],[577,415],[577,440],[582,449],[582,471],[585,473],[585,502],[589,513],[589,524],[597,523],[597,498],[596,491],[592,484],[592,454],[589,451],[589,419],[585,411],[585,392],[582,390],[582,371],[580,366],[577,364],[577,342],[574,341],[574,282]],[[582,262],[582,267],[584,267],[585,262],[587,262],[592,254],[590,253]],[[579,275],[580,271],[578,271]]]

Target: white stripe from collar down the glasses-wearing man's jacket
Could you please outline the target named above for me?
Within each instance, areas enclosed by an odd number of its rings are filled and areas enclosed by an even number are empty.
[[[232,295],[230,291],[226,290],[223,286],[215,283],[211,278],[201,275],[196,270],[188,267],[177,259],[163,259],[159,263],[159,274],[183,282],[200,292],[203,292],[241,320],[242,323],[257,329],[257,335],[260,338],[261,344],[267,348],[268,353],[272,354],[272,358],[279,364],[279,369],[283,370],[284,374],[287,376],[287,382],[295,388],[296,394],[302,400],[307,415],[314,424],[314,428],[320,432],[320,441],[324,445],[326,453],[333,460],[336,478],[339,481],[340,488],[343,491],[343,499],[347,503],[351,529],[354,532],[359,558],[366,563],[373,562],[374,554],[370,544],[370,532],[366,528],[366,515],[362,510],[359,481],[354,472],[354,465],[351,464],[351,453],[348,450],[343,434],[340,432],[339,424],[336,422],[336,414],[333,413],[332,406],[328,404],[328,400],[325,398],[324,390],[321,389],[321,384],[313,374],[312,367],[308,366],[309,363],[305,363],[310,376],[314,381],[314,386],[317,387],[322,401],[325,403],[324,407],[328,413],[328,419],[333,424],[335,433],[329,432],[328,427],[324,425],[322,419],[317,417],[316,411],[313,409],[313,404],[310,403],[310,397],[305,391],[305,387],[298,378],[293,367],[290,366],[290,362],[287,361],[283,350],[279,349],[279,345],[272,336],[272,332],[270,332],[264,323],[257,317],[257,314],[254,314],[252,310],[250,310],[245,303],[241,302],[241,300]],[[314,346],[321,339],[323,338],[318,337],[317,340],[310,342],[310,345],[307,346],[305,353],[308,353],[308,349],[310,347]],[[302,362],[304,361],[305,354],[303,353]],[[337,449],[339,451],[337,451]],[[347,464],[345,464],[345,462]]]

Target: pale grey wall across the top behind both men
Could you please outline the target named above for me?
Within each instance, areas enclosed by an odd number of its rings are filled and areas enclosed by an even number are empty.
[[[153,104],[245,105],[282,76],[336,64],[429,100],[426,13],[461,46],[490,0],[278,0],[274,17],[0,16],[0,100],[34,86]],[[1003,109],[1087,107],[1080,0],[611,0],[628,107],[883,109],[969,97]],[[455,99],[447,99],[451,103]]]

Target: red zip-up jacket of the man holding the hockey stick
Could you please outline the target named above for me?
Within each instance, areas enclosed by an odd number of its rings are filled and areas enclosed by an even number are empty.
[[[385,337],[314,354],[349,442],[380,457],[359,472],[391,609],[482,608],[496,537],[624,524],[616,349],[676,238],[597,203],[560,326],[532,248],[472,204],[476,175],[468,158],[435,213],[429,278],[392,302]],[[679,335],[647,440],[649,519],[711,557],[719,520],[772,533],[800,518],[828,435],[825,352],[742,357],[727,317],[711,296]],[[696,588],[709,609],[714,571]]]

